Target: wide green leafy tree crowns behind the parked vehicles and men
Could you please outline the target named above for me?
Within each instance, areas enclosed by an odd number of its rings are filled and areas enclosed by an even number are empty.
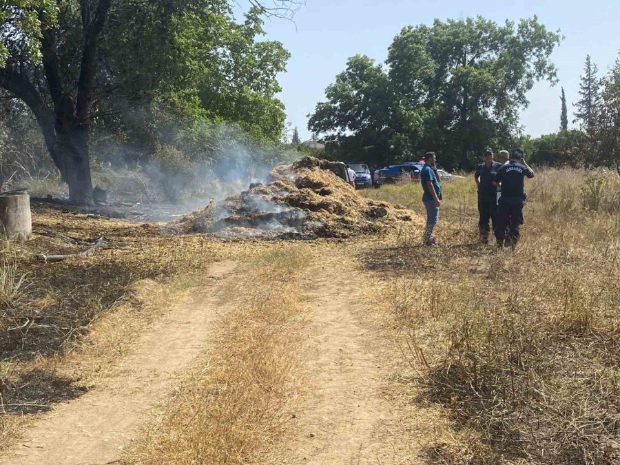
[[[514,138],[534,83],[556,81],[549,56],[559,41],[536,17],[409,26],[390,45],[387,70],[349,59],[309,128],[371,163],[433,149],[448,167],[471,167],[486,145]]]

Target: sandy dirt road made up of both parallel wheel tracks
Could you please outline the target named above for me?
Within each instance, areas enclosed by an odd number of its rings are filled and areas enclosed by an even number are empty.
[[[329,262],[300,282],[310,318],[302,357],[307,385],[291,435],[273,445],[278,450],[273,457],[285,464],[416,463],[402,405],[386,395],[401,356],[364,301],[369,276],[356,271],[355,261],[340,247],[327,247],[324,256]],[[117,379],[58,406],[0,464],[92,465],[120,459],[138,426],[152,420],[154,408],[174,389],[176,375],[209,349],[222,309],[218,289],[238,278],[235,262],[212,265],[203,289],[145,329]]]

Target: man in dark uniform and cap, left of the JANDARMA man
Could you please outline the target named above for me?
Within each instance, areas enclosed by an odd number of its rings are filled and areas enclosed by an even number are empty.
[[[495,174],[500,165],[493,160],[493,149],[486,147],[482,155],[484,163],[478,165],[474,174],[478,187],[478,230],[480,231],[480,242],[488,244],[488,221],[490,220],[495,231],[495,211],[497,209],[497,187],[493,185]]]

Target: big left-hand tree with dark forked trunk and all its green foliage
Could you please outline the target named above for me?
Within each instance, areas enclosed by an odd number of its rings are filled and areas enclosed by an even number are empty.
[[[279,140],[285,113],[276,74],[289,54],[258,40],[261,16],[280,10],[251,3],[242,23],[223,0],[5,5],[0,86],[37,118],[72,200],[91,200],[93,140],[108,141],[98,151],[123,147],[124,158],[138,159],[162,140],[210,156],[233,134]]]

